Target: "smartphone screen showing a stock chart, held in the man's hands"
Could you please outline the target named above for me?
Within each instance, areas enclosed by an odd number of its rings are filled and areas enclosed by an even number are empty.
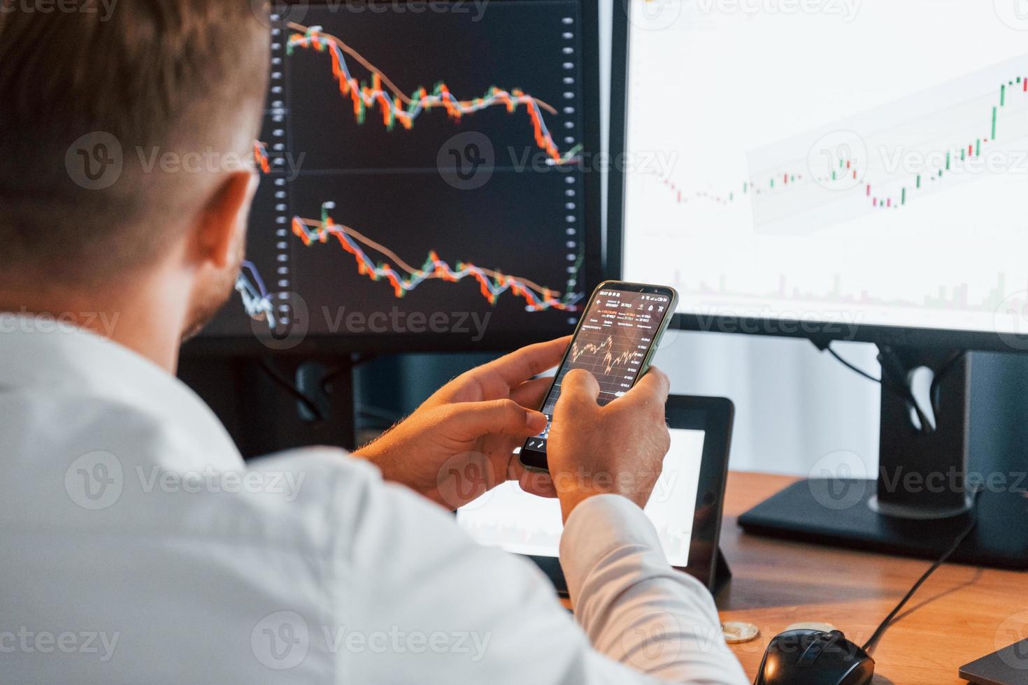
[[[546,395],[543,413],[547,419],[553,418],[560,385],[573,369],[585,369],[593,375],[599,385],[596,402],[600,406],[627,392],[642,369],[654,336],[669,313],[669,305],[670,298],[666,295],[599,291],[583,314],[567,357]],[[527,447],[545,450],[549,431],[547,423],[542,433],[528,439]]]

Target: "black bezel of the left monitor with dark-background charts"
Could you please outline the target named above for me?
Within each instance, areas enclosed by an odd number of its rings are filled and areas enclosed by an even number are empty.
[[[340,0],[335,0],[339,2]],[[379,0],[341,0],[351,5],[376,4]],[[381,4],[390,4],[397,0],[383,0]],[[419,3],[420,0],[399,0],[403,3]],[[467,3],[468,0],[441,0],[450,4]],[[490,0],[491,2],[546,2],[547,0]],[[325,5],[333,0],[278,0],[274,5]],[[590,0],[578,0],[582,12],[582,143],[586,160],[598,155],[600,147],[600,113],[599,99],[599,7]],[[593,173],[585,163],[584,183],[584,226],[585,259],[582,264],[584,293],[592,292],[593,288],[604,280],[610,268],[604,260],[607,226],[602,222],[602,189],[601,174]],[[236,303],[235,295],[225,306]],[[189,340],[182,347],[186,356],[265,356],[268,354],[286,356],[332,355],[340,353],[360,352],[492,352],[506,351],[522,347],[554,337],[567,335],[574,330],[568,326],[566,332],[547,328],[536,330],[525,328],[523,331],[504,334],[486,335],[481,341],[475,342],[466,334],[441,333],[374,333],[363,335],[306,334],[303,339],[288,349],[276,349],[262,342],[256,336],[222,336],[200,335]]]

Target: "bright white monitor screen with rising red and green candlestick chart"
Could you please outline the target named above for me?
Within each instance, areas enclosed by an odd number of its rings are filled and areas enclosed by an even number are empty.
[[[701,324],[1028,333],[1017,4],[629,0],[625,279]]]

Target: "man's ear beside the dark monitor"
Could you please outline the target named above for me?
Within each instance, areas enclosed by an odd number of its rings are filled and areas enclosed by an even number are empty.
[[[238,234],[246,231],[250,202],[260,178],[251,172],[232,172],[215,188],[195,228],[196,260],[217,269],[235,259]]]

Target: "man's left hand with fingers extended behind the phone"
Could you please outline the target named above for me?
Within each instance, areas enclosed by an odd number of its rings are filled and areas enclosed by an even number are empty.
[[[508,479],[552,497],[549,478],[524,473],[513,451],[546,427],[537,409],[553,379],[533,377],[559,364],[570,340],[529,345],[457,376],[355,456],[448,508]]]

